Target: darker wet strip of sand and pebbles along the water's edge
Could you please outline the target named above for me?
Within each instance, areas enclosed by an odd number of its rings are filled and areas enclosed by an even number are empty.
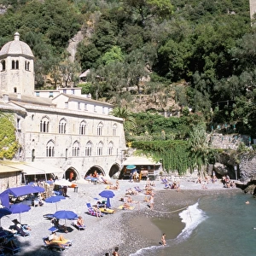
[[[200,201],[203,196],[230,193],[241,193],[241,189],[183,189],[179,192],[158,190],[154,196],[153,211],[146,207],[143,210],[122,214],[121,236],[125,241],[119,244],[120,254],[129,256],[144,247],[160,246],[162,233],[166,233],[166,240],[175,239],[185,227],[179,217],[180,212]],[[166,203],[170,199],[172,201]],[[102,253],[97,255],[104,255]]]

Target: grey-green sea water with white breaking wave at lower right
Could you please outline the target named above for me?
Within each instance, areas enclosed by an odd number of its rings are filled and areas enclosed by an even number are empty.
[[[252,195],[207,195],[179,215],[185,228],[177,238],[166,237],[166,247],[142,248],[131,255],[256,255],[256,199]]]

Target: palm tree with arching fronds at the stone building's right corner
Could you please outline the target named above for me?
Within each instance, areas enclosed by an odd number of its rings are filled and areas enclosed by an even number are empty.
[[[117,107],[113,109],[113,116],[124,119],[125,133],[137,128],[136,119],[131,115],[131,112],[126,108]]]

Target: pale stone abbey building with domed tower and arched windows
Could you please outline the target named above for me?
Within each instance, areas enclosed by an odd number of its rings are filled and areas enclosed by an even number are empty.
[[[125,133],[113,105],[80,88],[35,91],[34,80],[34,55],[16,32],[0,50],[0,111],[15,114],[20,149],[15,161],[2,161],[0,189],[3,178],[19,185],[51,173],[80,179],[95,170],[107,177],[118,172]]]

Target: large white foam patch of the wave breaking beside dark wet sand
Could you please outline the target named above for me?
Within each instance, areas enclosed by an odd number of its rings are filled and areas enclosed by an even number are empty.
[[[183,241],[187,239],[193,230],[201,224],[205,219],[207,219],[207,215],[198,207],[198,202],[193,206],[189,206],[186,210],[179,213],[182,222],[185,224],[185,228],[183,231],[177,236],[177,241]]]

